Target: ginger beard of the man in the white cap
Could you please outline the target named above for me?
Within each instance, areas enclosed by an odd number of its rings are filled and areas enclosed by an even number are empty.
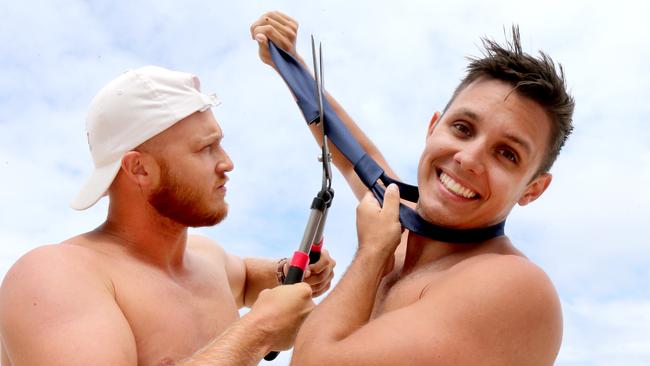
[[[149,204],[168,219],[188,227],[214,226],[228,214],[228,204],[223,197],[216,207],[210,207],[213,197],[206,197],[198,187],[200,182],[183,183],[171,173],[163,159],[156,159],[160,166],[160,185],[149,196]],[[217,195],[218,188],[210,188]]]

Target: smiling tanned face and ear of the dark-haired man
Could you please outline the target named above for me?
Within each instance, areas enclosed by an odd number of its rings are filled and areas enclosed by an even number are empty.
[[[539,104],[502,81],[473,82],[430,122],[418,167],[418,213],[458,228],[504,220],[515,204],[530,203],[548,187],[550,174],[535,174],[549,134],[550,120]],[[450,191],[441,172],[476,197]]]

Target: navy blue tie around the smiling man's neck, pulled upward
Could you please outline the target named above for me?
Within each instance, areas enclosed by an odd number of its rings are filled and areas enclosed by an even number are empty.
[[[293,56],[270,41],[269,51],[278,72],[296,99],[305,121],[308,124],[317,122],[320,118],[318,96],[316,95],[315,81],[309,71]],[[352,133],[350,133],[326,99],[323,100],[323,109],[325,111],[324,129],[329,140],[352,163],[354,171],[366,187],[373,192],[379,202],[383,203],[384,200],[384,186],[391,183],[397,184],[402,199],[417,202],[419,198],[418,187],[399,182],[387,176],[379,164],[366,153],[359,142],[352,136]],[[378,181],[381,181],[383,186],[378,184]],[[425,221],[417,212],[403,204],[400,204],[399,211],[402,226],[418,235],[434,240],[451,243],[480,243],[504,235],[505,221],[485,228],[451,229]]]

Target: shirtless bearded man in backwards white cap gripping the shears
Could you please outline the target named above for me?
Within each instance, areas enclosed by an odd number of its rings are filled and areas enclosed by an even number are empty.
[[[312,296],[330,286],[327,252],[307,283],[276,287],[282,262],[187,233],[228,210],[233,163],[217,104],[194,75],[155,66],[98,93],[87,119],[95,170],[72,207],[108,195],[107,219],[6,274],[2,365],[254,365],[291,347]],[[243,306],[252,308],[240,318]]]

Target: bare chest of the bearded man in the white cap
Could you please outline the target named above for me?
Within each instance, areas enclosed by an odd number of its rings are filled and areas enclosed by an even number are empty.
[[[186,358],[239,317],[225,272],[177,281],[138,270],[118,276],[115,291],[135,337],[139,365]]]

